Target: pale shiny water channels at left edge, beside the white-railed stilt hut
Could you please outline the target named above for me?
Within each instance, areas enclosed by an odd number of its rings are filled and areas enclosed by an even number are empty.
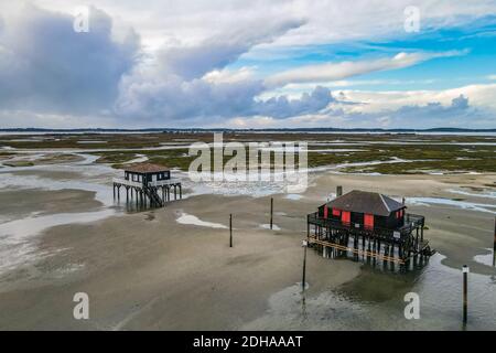
[[[0,171],[0,189],[19,190],[20,197],[25,197],[23,190],[30,189],[84,190],[95,192],[95,199],[103,204],[103,207],[95,212],[51,215],[32,213],[28,217],[3,217],[0,221],[0,275],[52,255],[37,249],[36,235],[43,231],[57,225],[91,223],[119,213],[121,205],[114,203],[111,186],[108,185],[116,171],[107,165],[95,164],[95,156],[79,156],[83,158],[80,161],[25,168],[6,167]],[[66,173],[66,176],[51,178],[53,172]]]

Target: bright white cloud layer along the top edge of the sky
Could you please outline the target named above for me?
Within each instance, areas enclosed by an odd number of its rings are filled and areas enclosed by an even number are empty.
[[[71,13],[80,0],[32,0],[40,7]],[[119,21],[132,25],[145,45],[179,41],[197,44],[219,33],[227,33],[248,23],[270,23],[273,19],[304,19],[306,24],[277,39],[274,45],[289,47],[339,41],[376,41],[406,35],[405,13],[417,6],[421,13],[421,31],[460,26],[494,13],[494,0],[98,0],[98,8]],[[84,2],[83,2],[84,4]],[[17,6],[2,1],[0,12]],[[255,24],[254,24],[255,26]],[[268,46],[268,45],[262,45]]]

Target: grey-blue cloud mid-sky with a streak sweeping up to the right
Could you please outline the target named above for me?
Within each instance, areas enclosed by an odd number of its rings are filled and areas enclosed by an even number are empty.
[[[333,99],[327,88],[316,87],[299,99],[279,96],[260,100],[257,96],[267,88],[262,81],[225,68],[251,46],[270,42],[298,25],[299,21],[272,21],[269,25],[260,23],[257,28],[224,33],[197,45],[163,50],[152,63],[125,75],[115,111],[130,119],[185,122],[197,118],[255,115],[285,118],[316,113]]]

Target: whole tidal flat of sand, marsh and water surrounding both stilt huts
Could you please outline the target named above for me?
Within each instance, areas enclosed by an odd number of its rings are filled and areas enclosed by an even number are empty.
[[[224,140],[308,141],[309,188],[287,194],[271,182],[190,181],[187,147],[213,142],[212,133],[0,136],[0,329],[461,330],[468,265],[466,329],[496,330],[496,270],[486,260],[496,137],[231,132]],[[139,211],[115,201],[111,178],[137,160],[171,167],[185,199]],[[9,165],[15,161],[32,164]],[[309,249],[303,302],[305,216],[337,185],[405,196],[409,212],[425,215],[438,254],[399,274]],[[403,317],[410,291],[420,296],[419,320]],[[89,320],[73,317],[76,292],[89,296]]]

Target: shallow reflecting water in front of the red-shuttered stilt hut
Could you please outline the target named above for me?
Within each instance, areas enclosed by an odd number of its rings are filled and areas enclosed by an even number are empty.
[[[241,329],[256,330],[461,330],[462,271],[441,264],[408,274],[364,266],[362,274],[336,290],[310,293],[302,301],[295,284],[269,299],[270,309]],[[308,276],[310,286],[312,275]],[[496,330],[496,272],[468,275],[467,330]],[[420,297],[420,319],[403,314],[407,292]]]

